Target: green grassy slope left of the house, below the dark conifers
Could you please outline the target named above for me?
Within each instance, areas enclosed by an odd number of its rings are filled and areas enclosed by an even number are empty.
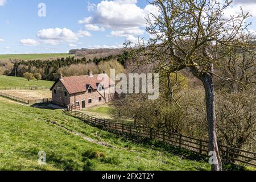
[[[26,78],[22,78],[22,77],[11,77],[11,76],[0,75],[0,88],[14,87],[14,86],[29,87],[29,86],[52,86],[52,85],[53,85],[52,81],[45,81],[45,80],[27,81]]]

